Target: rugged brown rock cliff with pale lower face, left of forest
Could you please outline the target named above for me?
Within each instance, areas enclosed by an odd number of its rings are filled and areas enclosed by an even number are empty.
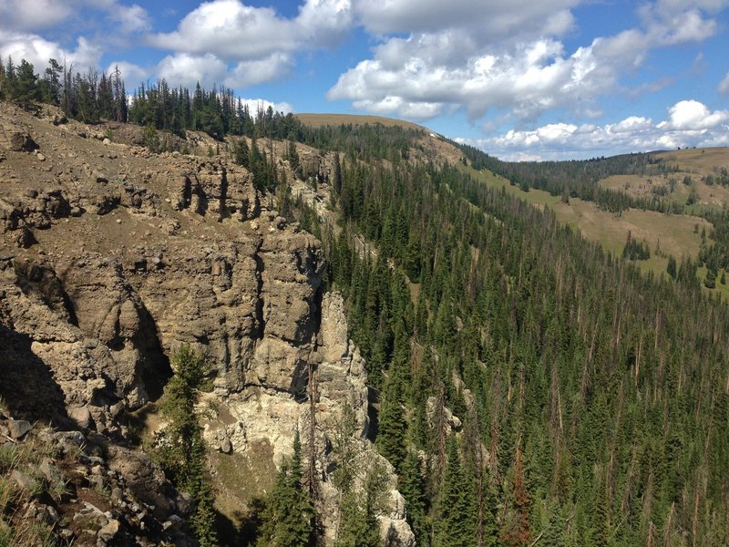
[[[347,402],[364,438],[368,400],[341,297],[323,294],[319,242],[231,161],[152,154],[115,128],[0,104],[0,397],[15,418],[124,444],[129,414],[149,409],[170,352],[190,343],[214,371],[211,449],[265,447],[278,463],[296,426],[307,442],[314,409],[331,542],[328,437]],[[391,498],[383,529],[411,544]]]

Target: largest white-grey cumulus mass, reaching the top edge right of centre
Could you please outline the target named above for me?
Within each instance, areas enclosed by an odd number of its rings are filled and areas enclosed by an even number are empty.
[[[371,58],[341,75],[327,98],[413,119],[465,108],[472,121],[491,109],[533,120],[550,108],[599,111],[621,78],[658,47],[714,35],[724,0],[657,0],[642,25],[567,51],[578,0],[354,0],[365,28],[383,33]],[[478,16],[474,16],[478,14]],[[406,36],[387,36],[398,33]],[[430,113],[430,114],[428,114]]]

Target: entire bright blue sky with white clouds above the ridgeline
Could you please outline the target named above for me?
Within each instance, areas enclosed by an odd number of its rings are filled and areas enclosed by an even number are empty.
[[[729,0],[0,0],[0,55],[410,119],[511,160],[729,146]]]

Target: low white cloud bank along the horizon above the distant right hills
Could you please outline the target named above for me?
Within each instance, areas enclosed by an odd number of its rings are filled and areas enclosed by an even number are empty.
[[[729,144],[729,110],[711,111],[694,100],[668,108],[668,119],[631,116],[602,126],[556,123],[509,130],[490,139],[457,139],[505,160],[564,160],[601,154]]]

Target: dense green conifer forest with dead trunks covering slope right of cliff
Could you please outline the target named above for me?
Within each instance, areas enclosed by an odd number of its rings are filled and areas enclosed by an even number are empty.
[[[332,281],[421,542],[729,540],[727,313],[695,276],[641,274],[456,167],[350,159],[342,179]]]

